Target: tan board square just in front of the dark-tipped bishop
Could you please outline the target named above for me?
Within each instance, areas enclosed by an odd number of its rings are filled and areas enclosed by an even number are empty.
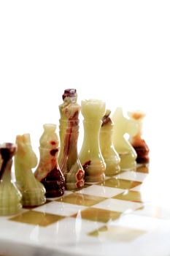
[[[103,185],[105,187],[116,187],[118,189],[132,189],[136,186],[139,186],[142,182],[139,181],[129,181],[122,178],[109,178],[102,183],[97,185]]]

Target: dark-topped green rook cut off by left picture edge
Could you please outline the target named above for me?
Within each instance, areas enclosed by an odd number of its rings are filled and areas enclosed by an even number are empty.
[[[18,214],[22,208],[22,195],[11,179],[12,157],[16,145],[4,143],[0,146],[0,215]]]

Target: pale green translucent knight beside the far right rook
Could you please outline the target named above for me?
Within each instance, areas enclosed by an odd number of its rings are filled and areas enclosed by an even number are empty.
[[[120,156],[121,170],[136,170],[136,151],[131,146],[131,143],[125,139],[125,133],[134,136],[137,132],[137,124],[123,116],[122,108],[117,108],[112,116],[115,123],[113,132],[113,144],[117,153]]]

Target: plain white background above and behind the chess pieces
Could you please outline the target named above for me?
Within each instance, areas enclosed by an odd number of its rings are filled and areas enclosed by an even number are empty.
[[[167,170],[169,13],[169,1],[0,1],[1,143],[30,132],[38,152],[42,125],[58,124],[63,90],[76,88],[79,102],[144,110],[151,158]]]

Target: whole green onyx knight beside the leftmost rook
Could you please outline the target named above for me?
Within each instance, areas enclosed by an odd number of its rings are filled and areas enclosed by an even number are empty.
[[[18,135],[16,144],[15,177],[23,195],[23,206],[40,206],[46,201],[45,187],[36,180],[31,170],[36,167],[37,158],[31,147],[30,135]]]

